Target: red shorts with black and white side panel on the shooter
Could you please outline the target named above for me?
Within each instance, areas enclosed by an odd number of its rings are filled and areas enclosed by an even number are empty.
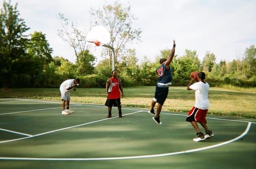
[[[188,113],[188,116],[186,117],[186,121],[195,121],[195,122],[204,122],[207,123],[205,117],[208,112],[208,109],[202,110],[198,109],[193,106],[193,108]]]

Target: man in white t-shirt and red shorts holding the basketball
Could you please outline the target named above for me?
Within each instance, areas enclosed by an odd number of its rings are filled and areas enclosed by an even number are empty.
[[[188,90],[195,90],[195,105],[188,113],[186,117],[186,121],[190,122],[194,129],[196,130],[197,136],[193,139],[194,141],[201,141],[208,137],[214,136],[212,131],[208,129],[206,123],[206,114],[209,108],[209,100],[208,100],[208,92],[209,92],[209,84],[204,81],[205,73],[199,72],[197,77],[190,77],[191,81],[188,84]],[[193,83],[194,80],[198,80],[198,82]],[[204,127],[206,135],[204,135],[198,127],[200,123],[201,126]]]

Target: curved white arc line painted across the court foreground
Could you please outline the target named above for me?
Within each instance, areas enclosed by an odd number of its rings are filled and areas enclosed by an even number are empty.
[[[239,140],[241,137],[244,137],[249,130],[250,130],[251,123],[249,122],[247,124],[247,128],[245,131],[239,135],[238,137],[228,140],[222,143],[218,143],[212,146],[202,147],[198,149],[191,149],[191,150],[184,150],[181,152],[170,152],[170,153],[163,153],[163,154],[157,154],[157,155],[140,155],[140,156],[128,156],[128,157],[110,157],[110,158],[13,158],[13,157],[0,157],[0,160],[124,160],[124,159],[135,159],[135,158],[154,158],[154,157],[163,157],[163,156],[169,156],[169,155],[179,155],[179,154],[185,154],[190,152],[198,152],[201,150],[206,149],[212,149],[218,146],[223,146],[228,143],[232,143],[236,140]]]

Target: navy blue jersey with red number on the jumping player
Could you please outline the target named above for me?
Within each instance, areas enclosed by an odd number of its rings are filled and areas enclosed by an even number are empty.
[[[159,68],[157,68],[156,72],[158,73],[157,83],[167,84],[172,82],[172,70],[170,67],[167,70],[166,66],[163,64]]]

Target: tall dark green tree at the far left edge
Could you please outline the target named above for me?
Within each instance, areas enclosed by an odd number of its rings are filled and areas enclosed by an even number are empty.
[[[26,54],[27,36],[24,33],[29,29],[20,13],[9,1],[3,2],[0,12],[0,75],[3,88],[8,87],[8,82],[14,74],[23,74],[31,71],[29,65],[31,58]]]

